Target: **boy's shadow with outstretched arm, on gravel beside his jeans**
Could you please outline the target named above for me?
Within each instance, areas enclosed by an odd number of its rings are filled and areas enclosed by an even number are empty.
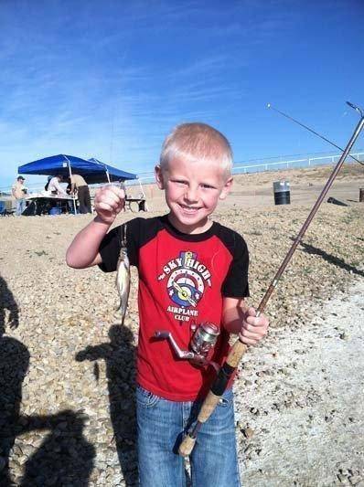
[[[94,361],[96,380],[99,373],[96,361],[105,360],[116,449],[125,485],[132,487],[138,483],[133,333],[121,324],[113,324],[109,337],[108,343],[87,346],[76,355],[76,360]]]

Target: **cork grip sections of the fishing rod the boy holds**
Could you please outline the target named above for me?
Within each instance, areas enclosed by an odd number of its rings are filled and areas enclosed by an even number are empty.
[[[225,364],[229,365],[231,369],[236,369],[241,361],[242,355],[248,350],[248,346],[243,344],[240,339],[238,339],[235,344],[233,344],[230,348],[229,355],[226,358]],[[224,364],[224,365],[225,365]],[[226,380],[225,384],[219,385],[219,375],[216,377],[211,389],[209,390],[209,394],[205,397],[205,400],[202,403],[202,406],[198,412],[198,428],[192,433],[187,434],[187,436],[183,439],[181,444],[179,445],[178,452],[182,457],[187,457],[190,455],[191,451],[194,449],[196,439],[197,439],[197,432],[200,426],[209,419],[211,414],[214,412],[215,408],[219,404],[219,399],[225,392],[226,386],[228,385],[228,380]],[[219,393],[215,394],[212,392],[213,389],[218,388]]]

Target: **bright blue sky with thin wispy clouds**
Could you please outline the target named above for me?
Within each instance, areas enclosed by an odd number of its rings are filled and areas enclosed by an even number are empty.
[[[268,102],[345,146],[363,21],[363,0],[1,0],[0,187],[52,154],[152,170],[187,121],[236,162],[331,150]]]

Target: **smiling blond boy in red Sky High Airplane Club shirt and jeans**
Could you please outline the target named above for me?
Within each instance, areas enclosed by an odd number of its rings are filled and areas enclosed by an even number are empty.
[[[140,484],[186,484],[177,448],[196,419],[200,400],[215,371],[176,357],[155,331],[172,333],[188,350],[191,325],[215,323],[220,334],[212,361],[229,350],[229,334],[256,344],[268,321],[247,309],[248,250],[239,234],[209,216],[232,184],[230,143],[204,123],[185,123],[171,132],[155,167],[156,184],[166,193],[169,213],[135,218],[107,233],[123,208],[123,190],[104,187],[95,196],[97,217],[73,240],[67,263],[116,269],[123,233],[128,256],[139,271],[139,344],[136,416]],[[240,485],[231,387],[198,434],[191,457],[192,483],[198,487]]]

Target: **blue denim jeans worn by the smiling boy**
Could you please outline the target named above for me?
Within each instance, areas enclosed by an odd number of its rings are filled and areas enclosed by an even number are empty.
[[[139,482],[142,487],[185,487],[184,459],[178,446],[184,431],[195,424],[201,403],[174,402],[138,386]],[[198,432],[190,455],[195,487],[239,487],[232,391],[225,391],[218,407]]]

